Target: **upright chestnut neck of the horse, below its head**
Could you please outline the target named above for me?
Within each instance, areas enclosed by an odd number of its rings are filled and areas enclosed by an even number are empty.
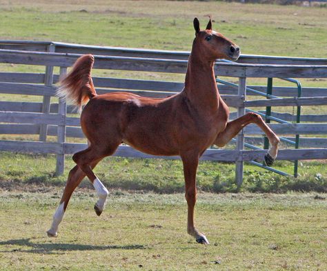
[[[188,59],[184,91],[190,102],[199,110],[218,110],[219,92],[213,66],[214,61],[202,61],[199,54],[192,49]]]

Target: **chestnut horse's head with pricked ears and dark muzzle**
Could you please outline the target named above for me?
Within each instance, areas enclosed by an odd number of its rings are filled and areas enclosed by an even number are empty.
[[[200,50],[201,57],[214,61],[215,59],[230,59],[237,61],[239,58],[239,46],[227,39],[222,34],[212,30],[211,18],[206,30],[200,30],[200,23],[197,17],[193,21],[195,29],[195,43]]]

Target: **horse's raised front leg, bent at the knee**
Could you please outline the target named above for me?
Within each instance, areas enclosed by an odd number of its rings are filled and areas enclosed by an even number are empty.
[[[268,153],[265,155],[264,159],[266,165],[273,165],[276,157],[277,157],[277,148],[278,143],[280,142],[279,137],[267,126],[264,120],[260,117],[259,114],[254,112],[250,112],[245,114],[234,121],[230,121],[227,123],[226,129],[223,132],[220,132],[215,140],[215,145],[218,147],[224,147],[233,137],[235,137],[241,129],[247,126],[250,123],[255,123],[261,130],[263,130],[270,142],[270,149]]]

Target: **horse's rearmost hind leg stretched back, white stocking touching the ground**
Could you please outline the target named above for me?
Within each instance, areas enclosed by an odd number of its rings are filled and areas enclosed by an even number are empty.
[[[101,161],[101,159],[92,162],[92,168],[95,168],[95,165],[97,165],[99,161]],[[61,223],[63,219],[63,214],[66,211],[68,201],[72,196],[72,192],[74,192],[74,190],[77,188],[79,183],[81,183],[84,177],[86,177],[86,174],[79,168],[78,165],[75,165],[75,167],[70,170],[65,190],[63,190],[63,195],[61,197],[59,206],[53,216],[51,228],[47,231],[48,237],[57,237],[59,223]]]

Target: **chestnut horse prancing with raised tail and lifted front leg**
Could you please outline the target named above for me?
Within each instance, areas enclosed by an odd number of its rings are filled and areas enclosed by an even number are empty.
[[[77,163],[70,170],[59,207],[54,213],[48,236],[56,237],[59,223],[72,192],[87,176],[99,196],[95,212],[103,211],[108,190],[92,171],[103,159],[112,155],[119,144],[153,155],[179,155],[183,161],[185,197],[188,203],[187,231],[198,243],[208,244],[206,236],[195,228],[194,207],[197,198],[196,174],[199,157],[208,146],[222,147],[249,123],[256,123],[271,144],[266,163],[277,157],[279,138],[255,113],[248,113],[228,122],[229,110],[221,99],[213,67],[215,59],[239,58],[239,47],[215,32],[211,20],[206,30],[193,21],[195,39],[188,59],[184,90],[171,97],[153,99],[127,92],[97,95],[90,75],[94,58],[80,57],[68,76],[61,81],[59,97],[65,97],[81,108],[81,128],[88,139],[88,148],[73,155]]]

